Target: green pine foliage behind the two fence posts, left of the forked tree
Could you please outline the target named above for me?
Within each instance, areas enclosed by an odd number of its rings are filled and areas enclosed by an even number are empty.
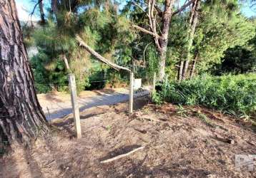
[[[117,4],[110,1],[97,1],[97,4],[94,1],[74,1],[74,6],[69,4],[70,9],[66,9],[65,3],[66,1],[59,1],[57,14],[49,11],[44,26],[37,26],[32,34],[24,33],[29,45],[34,41],[34,46],[39,51],[31,58],[39,93],[52,88],[67,88],[69,71],[64,65],[64,57],[68,59],[71,71],[76,75],[78,90],[90,87],[90,80],[117,79],[110,75],[112,70],[95,61],[87,51],[79,47],[75,34],[79,34],[89,46],[109,61],[122,66],[131,63],[132,48],[129,44],[135,35],[129,30],[127,19],[118,14]],[[24,28],[25,31],[26,29]],[[104,75],[95,78],[95,74],[102,73]]]

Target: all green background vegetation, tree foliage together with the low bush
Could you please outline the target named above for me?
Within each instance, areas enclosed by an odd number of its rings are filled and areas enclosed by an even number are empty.
[[[237,117],[255,115],[256,22],[240,13],[243,2],[201,1],[193,36],[189,23],[192,5],[172,16],[165,68],[169,83],[159,83],[154,102],[205,105]],[[156,6],[163,11],[164,1],[156,1]],[[173,11],[177,9],[179,6],[173,6]],[[147,1],[139,0],[125,4],[63,0],[45,13],[44,21],[23,26],[26,46],[38,50],[31,57],[38,93],[67,90],[69,71],[64,57],[76,75],[79,90],[127,85],[127,73],[95,61],[79,47],[75,34],[109,61],[151,82],[154,72],[159,71],[159,51],[150,34],[132,28],[136,24],[148,29],[147,10]],[[161,33],[161,16],[156,20]],[[180,63],[187,60],[187,80],[177,81]]]

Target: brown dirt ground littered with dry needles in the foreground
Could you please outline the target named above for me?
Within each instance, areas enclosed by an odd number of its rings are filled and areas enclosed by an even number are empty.
[[[130,117],[127,107],[82,112],[80,140],[73,136],[71,115],[54,120],[51,135],[0,159],[0,177],[256,177],[255,171],[235,171],[235,155],[256,154],[256,132],[249,123],[199,107],[160,108],[147,98],[136,100]]]

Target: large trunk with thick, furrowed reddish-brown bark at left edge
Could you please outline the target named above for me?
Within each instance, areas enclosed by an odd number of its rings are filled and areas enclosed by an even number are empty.
[[[36,98],[14,0],[0,4],[0,142],[28,142],[49,130]]]

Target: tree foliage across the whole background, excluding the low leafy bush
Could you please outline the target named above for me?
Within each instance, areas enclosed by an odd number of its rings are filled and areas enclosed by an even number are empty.
[[[51,5],[44,2],[45,6]],[[163,11],[164,1],[156,3]],[[24,27],[26,45],[35,46],[39,51],[31,58],[36,83],[52,84],[38,88],[39,92],[52,88],[62,90],[59,85],[67,85],[68,71],[64,66],[64,56],[76,75],[79,90],[93,88],[92,80],[110,80],[114,83],[114,80],[127,78],[127,74],[120,74],[95,61],[79,47],[74,39],[75,34],[82,36],[89,46],[110,61],[133,68],[135,77],[151,80],[153,73],[159,71],[159,51],[150,34],[131,26],[133,23],[147,28],[147,3],[131,0],[125,5],[121,4],[117,1],[71,0],[70,4],[58,1],[55,13],[53,7],[48,10],[46,23],[39,23],[34,28]],[[187,58],[187,53],[190,53],[190,59],[187,60],[191,61],[189,70],[192,71],[195,66],[195,75],[205,72],[246,73],[254,70],[255,21],[240,14],[239,1],[202,1],[192,39],[188,35],[191,11],[189,8],[184,9],[173,16],[170,23],[165,68],[169,78],[177,78],[177,66]],[[157,21],[160,29],[161,21]],[[187,47],[191,40],[192,46]],[[212,70],[214,68],[215,71]],[[99,73],[104,75],[96,76]]]

